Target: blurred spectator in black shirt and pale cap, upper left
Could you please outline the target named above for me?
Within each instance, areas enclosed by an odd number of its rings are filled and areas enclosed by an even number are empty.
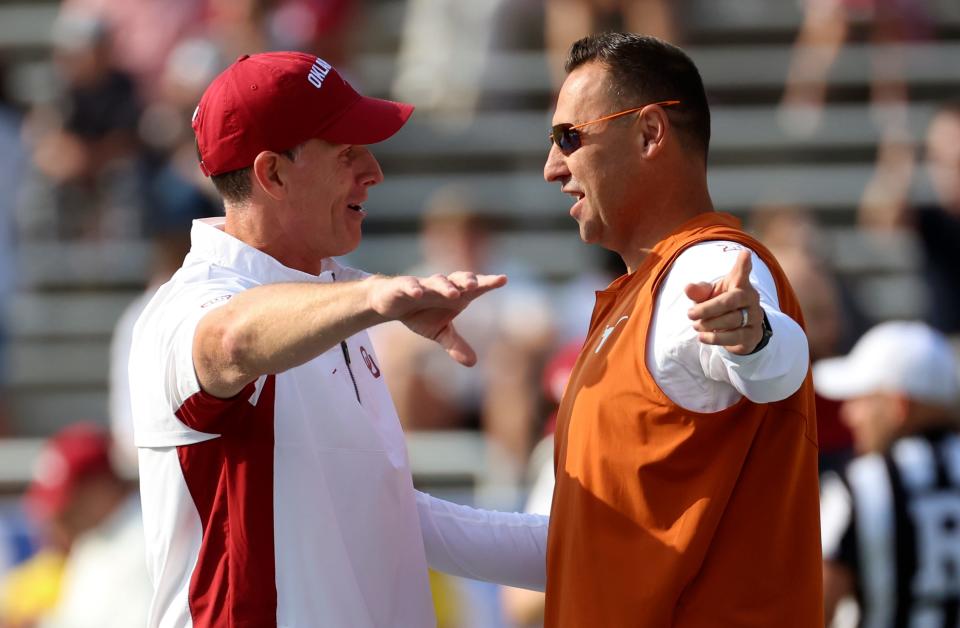
[[[99,18],[62,13],[54,26],[54,61],[63,81],[54,107],[29,119],[33,164],[52,198],[33,198],[23,215],[31,236],[101,238],[136,235],[139,102],[131,77],[108,55]],[[54,216],[43,219],[47,203]]]

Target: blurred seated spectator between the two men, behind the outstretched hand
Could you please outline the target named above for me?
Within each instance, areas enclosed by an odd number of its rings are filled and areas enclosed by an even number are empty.
[[[454,269],[505,273],[506,287],[471,304],[457,330],[477,351],[474,369],[452,368],[435,343],[402,326],[374,330],[397,411],[408,429],[477,429],[507,454],[515,478],[532,446],[537,423],[536,377],[552,335],[542,288],[509,259],[494,259],[490,225],[462,190],[436,194],[424,215],[424,261],[418,276]],[[478,372],[479,371],[479,372]]]

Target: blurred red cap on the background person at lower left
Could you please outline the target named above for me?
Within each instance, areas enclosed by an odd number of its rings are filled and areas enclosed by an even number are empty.
[[[110,472],[110,437],[92,423],[58,432],[40,450],[25,496],[27,510],[40,519],[63,512],[77,484]]]

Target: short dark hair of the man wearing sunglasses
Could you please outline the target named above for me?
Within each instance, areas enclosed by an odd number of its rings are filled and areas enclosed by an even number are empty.
[[[710,107],[697,66],[685,52],[647,35],[599,33],[573,44],[566,70],[593,61],[607,67],[611,94],[626,108],[679,100],[679,105],[666,109],[670,120],[706,159]]]

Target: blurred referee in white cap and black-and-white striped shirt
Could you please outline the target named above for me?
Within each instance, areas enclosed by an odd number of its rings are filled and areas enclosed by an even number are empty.
[[[922,323],[883,323],[813,373],[821,394],[843,401],[860,454],[822,483],[827,625],[846,596],[862,626],[956,625],[960,435],[948,341]]]

